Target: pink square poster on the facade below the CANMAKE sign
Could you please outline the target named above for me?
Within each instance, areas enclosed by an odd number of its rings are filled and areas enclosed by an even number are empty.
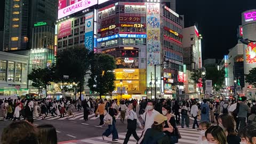
[[[71,20],[58,24],[58,38],[62,38],[71,34]]]

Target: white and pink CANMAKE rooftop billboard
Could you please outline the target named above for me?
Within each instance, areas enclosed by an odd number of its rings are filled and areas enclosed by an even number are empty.
[[[59,0],[58,19],[66,17],[98,3],[98,0]]]

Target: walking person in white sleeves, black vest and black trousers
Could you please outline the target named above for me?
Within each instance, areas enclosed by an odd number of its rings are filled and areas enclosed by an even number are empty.
[[[143,129],[143,127],[141,126],[139,119],[137,119],[137,114],[133,111],[133,105],[129,105],[127,114],[127,133],[125,135],[124,144],[127,144],[131,135],[133,135],[134,139],[137,141],[140,139],[136,133],[137,124],[141,129]]]

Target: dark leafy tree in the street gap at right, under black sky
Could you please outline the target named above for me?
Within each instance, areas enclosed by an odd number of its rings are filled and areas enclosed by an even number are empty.
[[[225,81],[225,71],[218,70],[216,67],[205,67],[206,77],[205,79],[212,80],[212,84],[215,85],[215,90],[219,91],[223,87]]]

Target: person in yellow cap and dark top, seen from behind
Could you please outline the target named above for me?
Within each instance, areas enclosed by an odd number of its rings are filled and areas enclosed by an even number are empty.
[[[158,114],[154,117],[154,124],[149,128],[144,136],[143,144],[154,143],[154,144],[169,144],[168,136],[163,132],[163,128],[167,121],[167,117]]]

